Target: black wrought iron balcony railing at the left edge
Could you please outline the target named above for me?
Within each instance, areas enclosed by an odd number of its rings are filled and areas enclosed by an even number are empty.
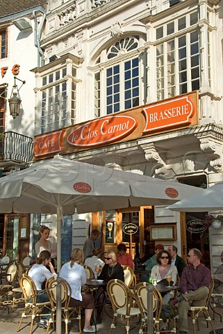
[[[33,138],[17,134],[16,132],[4,132],[0,139],[0,163],[2,161],[14,161],[26,163],[33,159]]]

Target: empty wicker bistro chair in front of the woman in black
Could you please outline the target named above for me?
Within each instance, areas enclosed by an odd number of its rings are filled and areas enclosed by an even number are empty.
[[[110,280],[107,285],[107,293],[113,306],[113,322],[110,325],[109,334],[117,325],[118,317],[125,321],[126,334],[129,334],[129,319],[131,317],[140,317],[140,309],[133,308],[133,294],[129,287],[122,280]]]

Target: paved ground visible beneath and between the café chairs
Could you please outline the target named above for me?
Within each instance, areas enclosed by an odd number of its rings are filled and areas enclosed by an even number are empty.
[[[17,333],[17,326],[19,324],[19,319],[22,315],[22,310],[23,310],[22,304],[21,304],[20,308],[18,308],[14,312],[11,312],[11,309],[10,309],[10,312],[8,313],[7,308],[2,308],[0,310],[0,333],[3,333],[3,334]],[[221,308],[217,308],[217,312],[220,312],[220,314],[223,317],[223,306]],[[210,311],[210,315],[211,315],[211,317],[213,316],[212,311]],[[111,321],[112,321],[112,319],[110,319],[110,317],[108,317],[108,315],[106,315],[106,313],[103,312],[103,314],[102,314],[102,324],[97,325],[98,328],[99,328],[98,333],[99,334],[107,334],[109,332],[109,329],[110,329]],[[121,323],[119,323],[119,324],[121,324]],[[135,324],[136,324],[136,322],[135,322]],[[189,334],[192,334],[192,321],[191,321],[190,317],[188,318],[188,324],[189,324]],[[213,320],[213,324],[215,326],[215,329],[223,328],[223,322],[220,322],[220,317],[218,315],[215,315],[215,320]],[[77,324],[76,321],[72,322],[72,326],[69,326],[69,333],[78,333],[79,329],[78,329],[77,325],[78,324]],[[138,333],[138,331],[139,331],[139,327],[134,326],[134,324],[132,324],[130,334],[136,334],[136,333]],[[199,321],[199,331],[197,331],[197,334],[208,334],[211,331],[212,330],[210,328],[210,325],[207,328],[206,321],[201,319]],[[29,334],[29,332],[30,332],[30,323],[29,323],[28,319],[24,319],[24,322],[22,323],[21,330],[19,331],[19,333]],[[46,333],[46,330],[43,329],[43,328],[39,328],[38,324],[36,322],[33,326],[33,333],[35,333],[35,334]],[[56,333],[56,332],[53,331],[53,329],[51,329],[49,331],[49,333]],[[64,324],[63,324],[62,333],[65,333]],[[223,329],[222,329],[222,333],[223,333]],[[125,329],[123,327],[122,328],[114,328],[113,329],[113,334],[125,334]]]

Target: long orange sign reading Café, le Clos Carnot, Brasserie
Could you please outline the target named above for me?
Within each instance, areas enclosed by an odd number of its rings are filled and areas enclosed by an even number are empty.
[[[72,153],[197,124],[198,92],[35,136],[34,157]]]

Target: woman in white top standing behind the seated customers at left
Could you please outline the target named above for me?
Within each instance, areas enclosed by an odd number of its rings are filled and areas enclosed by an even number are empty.
[[[39,237],[40,240],[35,244],[36,255],[39,256],[42,250],[48,250],[51,253],[52,264],[53,259],[56,258],[56,249],[51,244],[51,241],[47,240],[49,238],[49,228],[47,226],[42,226],[40,228]]]

